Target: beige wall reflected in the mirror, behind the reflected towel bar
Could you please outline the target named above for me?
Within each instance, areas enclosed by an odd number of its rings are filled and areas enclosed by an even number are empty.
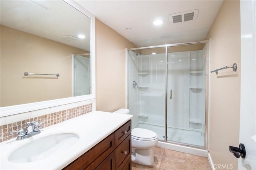
[[[71,54],[82,49],[1,26],[1,107],[72,96]],[[59,73],[54,76],[24,76]]]

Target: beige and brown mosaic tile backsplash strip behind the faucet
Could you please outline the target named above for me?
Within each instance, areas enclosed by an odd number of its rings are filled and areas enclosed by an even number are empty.
[[[89,113],[92,111],[92,103],[87,105],[82,105],[79,107],[74,107],[72,109],[66,109],[63,111],[50,113],[47,115],[42,115],[38,117],[34,117],[31,119],[26,119],[14,123],[10,123],[8,125],[0,125],[0,142],[16,138],[17,133],[14,132],[13,134],[10,134],[12,130],[20,130],[20,129],[26,129],[26,122],[32,122],[32,121],[38,121],[38,123],[44,122],[41,127],[49,127],[52,125],[55,125],[57,123],[67,121],[69,119],[72,119],[74,117],[78,117],[81,115],[84,115],[86,113]]]

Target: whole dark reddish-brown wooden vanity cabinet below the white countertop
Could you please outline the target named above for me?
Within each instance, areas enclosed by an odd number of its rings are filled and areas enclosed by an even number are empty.
[[[65,170],[131,170],[131,120],[74,160]]]

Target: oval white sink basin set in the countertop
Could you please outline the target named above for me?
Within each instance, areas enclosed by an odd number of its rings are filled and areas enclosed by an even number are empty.
[[[75,133],[58,133],[32,140],[8,156],[8,161],[14,163],[27,163],[44,159],[56,152],[65,152],[79,140]]]

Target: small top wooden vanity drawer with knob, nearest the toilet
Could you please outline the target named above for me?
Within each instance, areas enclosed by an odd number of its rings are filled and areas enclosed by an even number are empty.
[[[132,124],[131,120],[128,121],[126,124],[124,124],[122,127],[120,127],[118,130],[115,132],[115,138],[116,138],[116,147],[127,137],[129,134],[132,132]]]

